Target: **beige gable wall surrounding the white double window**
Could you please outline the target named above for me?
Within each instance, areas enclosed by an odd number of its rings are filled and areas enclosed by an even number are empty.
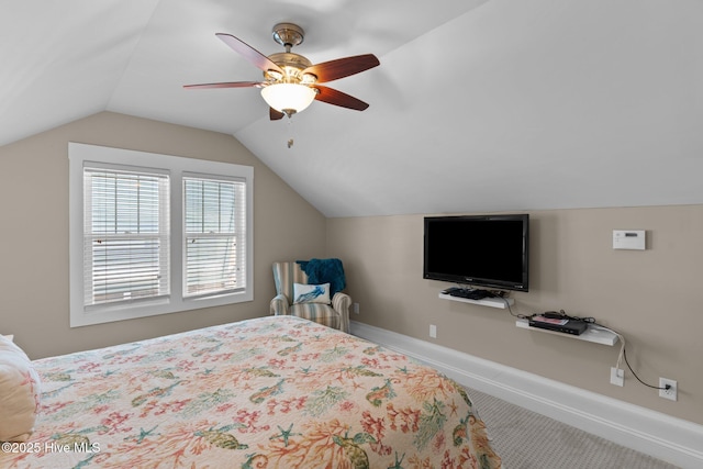
[[[254,167],[254,301],[70,328],[68,142]],[[0,148],[0,333],[32,358],[268,314],[271,263],[324,255],[325,219],[230,135],[103,112]]]

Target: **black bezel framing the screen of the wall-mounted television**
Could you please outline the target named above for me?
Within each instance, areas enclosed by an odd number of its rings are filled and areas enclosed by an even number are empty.
[[[428,259],[428,238],[427,225],[433,222],[442,221],[522,221],[523,223],[523,261],[522,261],[522,281],[507,281],[503,279],[487,279],[477,277],[466,277],[451,275],[447,272],[427,271]],[[449,216],[425,216],[424,217],[424,253],[423,253],[423,278],[427,280],[448,281],[453,283],[472,286],[480,289],[498,289],[513,291],[529,291],[529,214],[499,214],[499,215],[449,215]]]

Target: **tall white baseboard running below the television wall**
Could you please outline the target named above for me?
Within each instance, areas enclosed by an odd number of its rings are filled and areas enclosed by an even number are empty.
[[[462,386],[618,445],[681,468],[703,467],[703,425],[356,321],[352,334],[426,362]]]

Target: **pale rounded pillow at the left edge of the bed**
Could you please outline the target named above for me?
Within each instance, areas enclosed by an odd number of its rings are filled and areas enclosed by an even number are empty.
[[[41,382],[26,354],[0,335],[0,442],[26,442],[34,432]]]

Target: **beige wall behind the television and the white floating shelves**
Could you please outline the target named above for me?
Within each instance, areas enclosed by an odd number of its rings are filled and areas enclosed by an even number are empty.
[[[646,230],[647,250],[613,250],[613,230]],[[424,280],[423,216],[327,220],[359,321],[703,424],[703,205],[531,212],[531,287],[515,312],[563,309],[622,332],[637,375],[679,383],[679,401],[610,384],[620,347],[515,327],[506,310],[437,298]],[[429,324],[437,338],[428,336]],[[623,365],[624,367],[624,365]]]

